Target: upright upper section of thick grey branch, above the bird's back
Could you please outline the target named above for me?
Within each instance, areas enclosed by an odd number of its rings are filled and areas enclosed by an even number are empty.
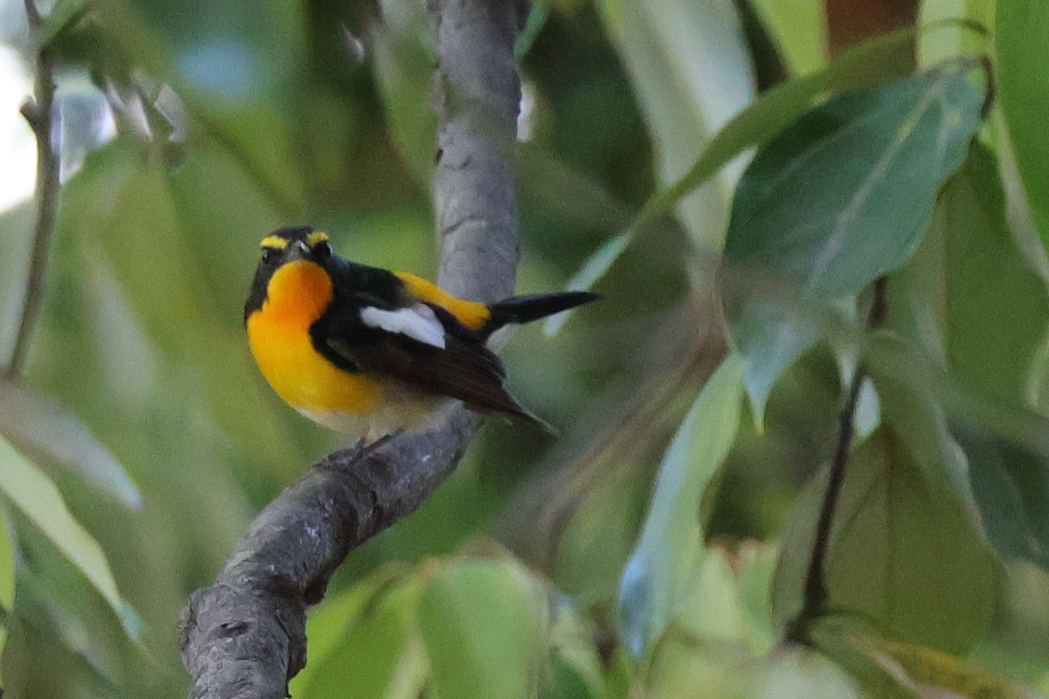
[[[513,292],[517,268],[512,160],[520,79],[514,40],[528,3],[428,0],[428,7],[438,61],[433,212],[443,255],[437,282],[464,299],[499,301]],[[509,235],[493,237],[492,231]]]

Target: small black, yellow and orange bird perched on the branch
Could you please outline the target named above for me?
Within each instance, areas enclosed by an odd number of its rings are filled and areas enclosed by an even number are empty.
[[[341,258],[308,225],[279,228],[260,248],[244,303],[248,345],[277,395],[305,417],[372,443],[425,430],[459,400],[552,430],[507,390],[488,340],[598,294],[465,301],[410,272]]]

